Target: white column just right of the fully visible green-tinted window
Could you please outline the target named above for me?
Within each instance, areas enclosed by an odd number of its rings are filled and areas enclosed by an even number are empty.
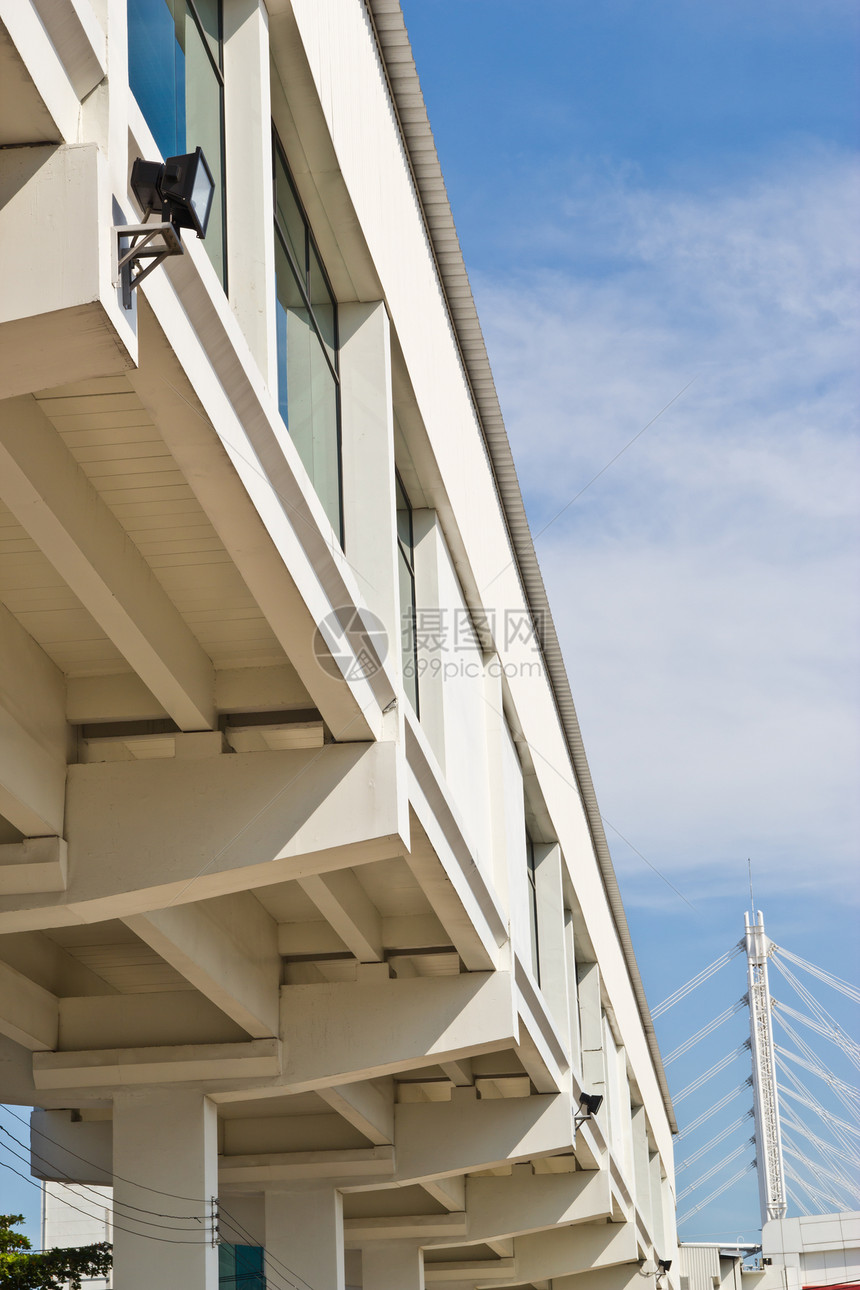
[[[388,633],[400,676],[391,334],[382,303],[342,304],[340,422],[344,550],[358,590]]]

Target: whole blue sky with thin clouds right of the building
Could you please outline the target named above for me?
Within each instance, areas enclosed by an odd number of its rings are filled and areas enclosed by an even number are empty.
[[[740,938],[748,857],[774,940],[857,980],[860,10],[404,9],[649,997]],[[744,991],[735,960],[660,1020],[664,1051]],[[672,1063],[674,1091],[744,1033]],[[758,1226],[748,1175],[682,1232]]]

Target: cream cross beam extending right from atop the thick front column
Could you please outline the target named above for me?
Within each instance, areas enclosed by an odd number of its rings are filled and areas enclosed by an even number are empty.
[[[300,1093],[493,1053],[513,1026],[508,973],[282,986],[284,1082]],[[397,1107],[396,1122],[410,1109],[424,1108]]]

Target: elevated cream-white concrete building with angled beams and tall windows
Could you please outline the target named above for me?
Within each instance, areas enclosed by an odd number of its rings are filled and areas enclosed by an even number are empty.
[[[35,1175],[120,1290],[677,1290],[672,1107],[397,0],[0,0],[0,144]],[[126,308],[133,163],[199,146],[206,239]]]

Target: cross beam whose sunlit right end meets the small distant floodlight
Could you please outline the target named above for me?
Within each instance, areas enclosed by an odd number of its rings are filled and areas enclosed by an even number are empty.
[[[570,1102],[562,1094],[484,1102],[469,1093],[455,1090],[450,1102],[395,1108],[400,1182],[495,1169],[571,1149]]]

